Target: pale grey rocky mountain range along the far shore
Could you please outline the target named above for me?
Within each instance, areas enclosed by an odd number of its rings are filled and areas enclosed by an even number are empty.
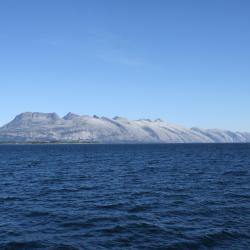
[[[22,113],[0,128],[2,142],[102,143],[250,142],[250,133],[184,128],[160,119],[128,120],[68,113]]]

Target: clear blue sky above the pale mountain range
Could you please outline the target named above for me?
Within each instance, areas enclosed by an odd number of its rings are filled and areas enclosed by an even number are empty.
[[[21,112],[250,131],[250,1],[0,1],[0,126]]]

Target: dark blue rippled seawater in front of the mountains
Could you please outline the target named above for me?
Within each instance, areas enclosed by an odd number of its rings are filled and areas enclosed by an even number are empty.
[[[250,249],[250,145],[1,145],[0,249]]]

